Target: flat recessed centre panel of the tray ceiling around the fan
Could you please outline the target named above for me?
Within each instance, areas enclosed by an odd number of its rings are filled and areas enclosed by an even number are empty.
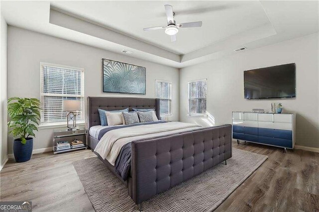
[[[166,1],[51,1],[51,5],[104,24],[176,54],[203,48],[231,35],[269,23],[259,1],[169,1],[176,23],[202,21],[199,28],[181,28],[170,42],[166,26]],[[253,17],[253,18],[252,18]]]

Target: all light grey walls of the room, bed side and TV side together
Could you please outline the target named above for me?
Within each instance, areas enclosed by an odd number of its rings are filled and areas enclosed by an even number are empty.
[[[180,119],[183,122],[196,122],[201,125],[231,123],[231,111],[250,111],[256,107],[270,110],[270,103],[282,102],[284,112],[297,113],[297,145],[318,148],[318,57],[317,33],[183,68],[178,73],[178,70],[175,68],[9,26],[7,98],[13,96],[40,98],[40,62],[84,68],[85,97],[121,96],[154,98],[155,80],[160,79],[172,82],[173,116],[171,120]],[[103,93],[101,58],[146,67],[147,95]],[[296,63],[297,65],[297,97],[295,99],[244,99],[244,70],[285,63]],[[210,114],[209,118],[189,117],[187,116],[187,82],[204,78],[208,80],[207,109]],[[1,81],[1,87],[2,85]],[[1,91],[4,90],[1,88]],[[1,104],[3,104],[2,101]],[[6,106],[2,108],[6,108]],[[3,124],[2,126],[4,127]],[[52,134],[53,128],[41,128],[36,134],[34,149],[51,147]],[[2,131],[2,135],[6,137],[6,132],[3,133]],[[2,142],[4,142],[2,143],[2,150],[5,150],[6,140],[2,138]],[[9,153],[11,153],[12,137],[10,136],[8,137],[8,143]]]

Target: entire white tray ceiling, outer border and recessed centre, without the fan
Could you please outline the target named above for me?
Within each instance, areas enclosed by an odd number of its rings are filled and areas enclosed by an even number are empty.
[[[202,27],[181,28],[176,42],[143,31],[166,25],[164,4],[176,23]],[[316,33],[318,10],[318,1],[1,1],[9,25],[177,68]]]

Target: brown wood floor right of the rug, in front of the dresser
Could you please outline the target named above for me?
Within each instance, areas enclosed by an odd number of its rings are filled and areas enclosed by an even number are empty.
[[[215,211],[319,211],[319,153],[253,143],[233,147],[268,159]]]

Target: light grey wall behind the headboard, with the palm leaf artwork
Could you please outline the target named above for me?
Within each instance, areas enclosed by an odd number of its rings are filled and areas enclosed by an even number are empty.
[[[108,94],[102,92],[102,58],[144,66],[147,69],[146,95]],[[85,97],[155,98],[155,80],[172,82],[172,117],[179,120],[178,69],[139,60],[126,55],[8,27],[8,98],[40,98],[40,62],[84,68]],[[41,128],[34,139],[34,149],[52,146],[52,128]],[[8,137],[9,153],[12,137]]]

